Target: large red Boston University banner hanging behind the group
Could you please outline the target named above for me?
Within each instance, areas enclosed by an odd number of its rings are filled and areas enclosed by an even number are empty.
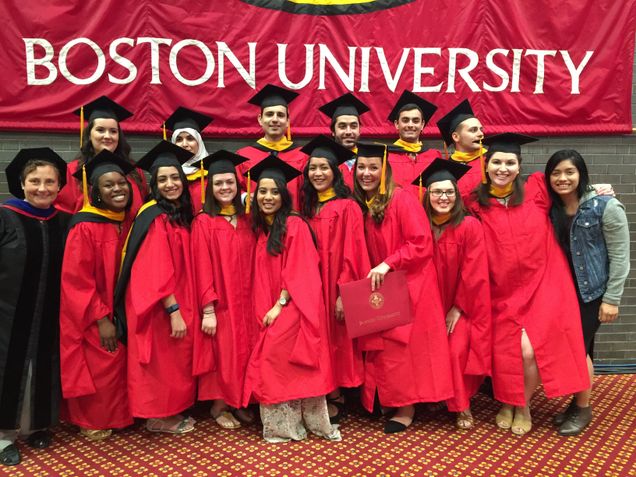
[[[159,137],[179,105],[214,117],[208,136],[257,136],[247,99],[298,90],[292,130],[327,130],[317,108],[351,91],[363,134],[404,89],[464,98],[487,133],[631,132],[635,0],[3,0],[0,128],[78,130],[71,111],[106,94]]]

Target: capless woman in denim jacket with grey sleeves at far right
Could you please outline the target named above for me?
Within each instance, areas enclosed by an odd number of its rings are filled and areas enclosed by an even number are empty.
[[[625,208],[589,185],[585,161],[574,150],[555,152],[545,167],[552,198],[550,218],[576,284],[590,383],[594,376],[594,335],[601,323],[618,316],[629,273],[629,230]],[[592,388],[575,394],[555,417],[559,434],[579,434],[592,420]]]

